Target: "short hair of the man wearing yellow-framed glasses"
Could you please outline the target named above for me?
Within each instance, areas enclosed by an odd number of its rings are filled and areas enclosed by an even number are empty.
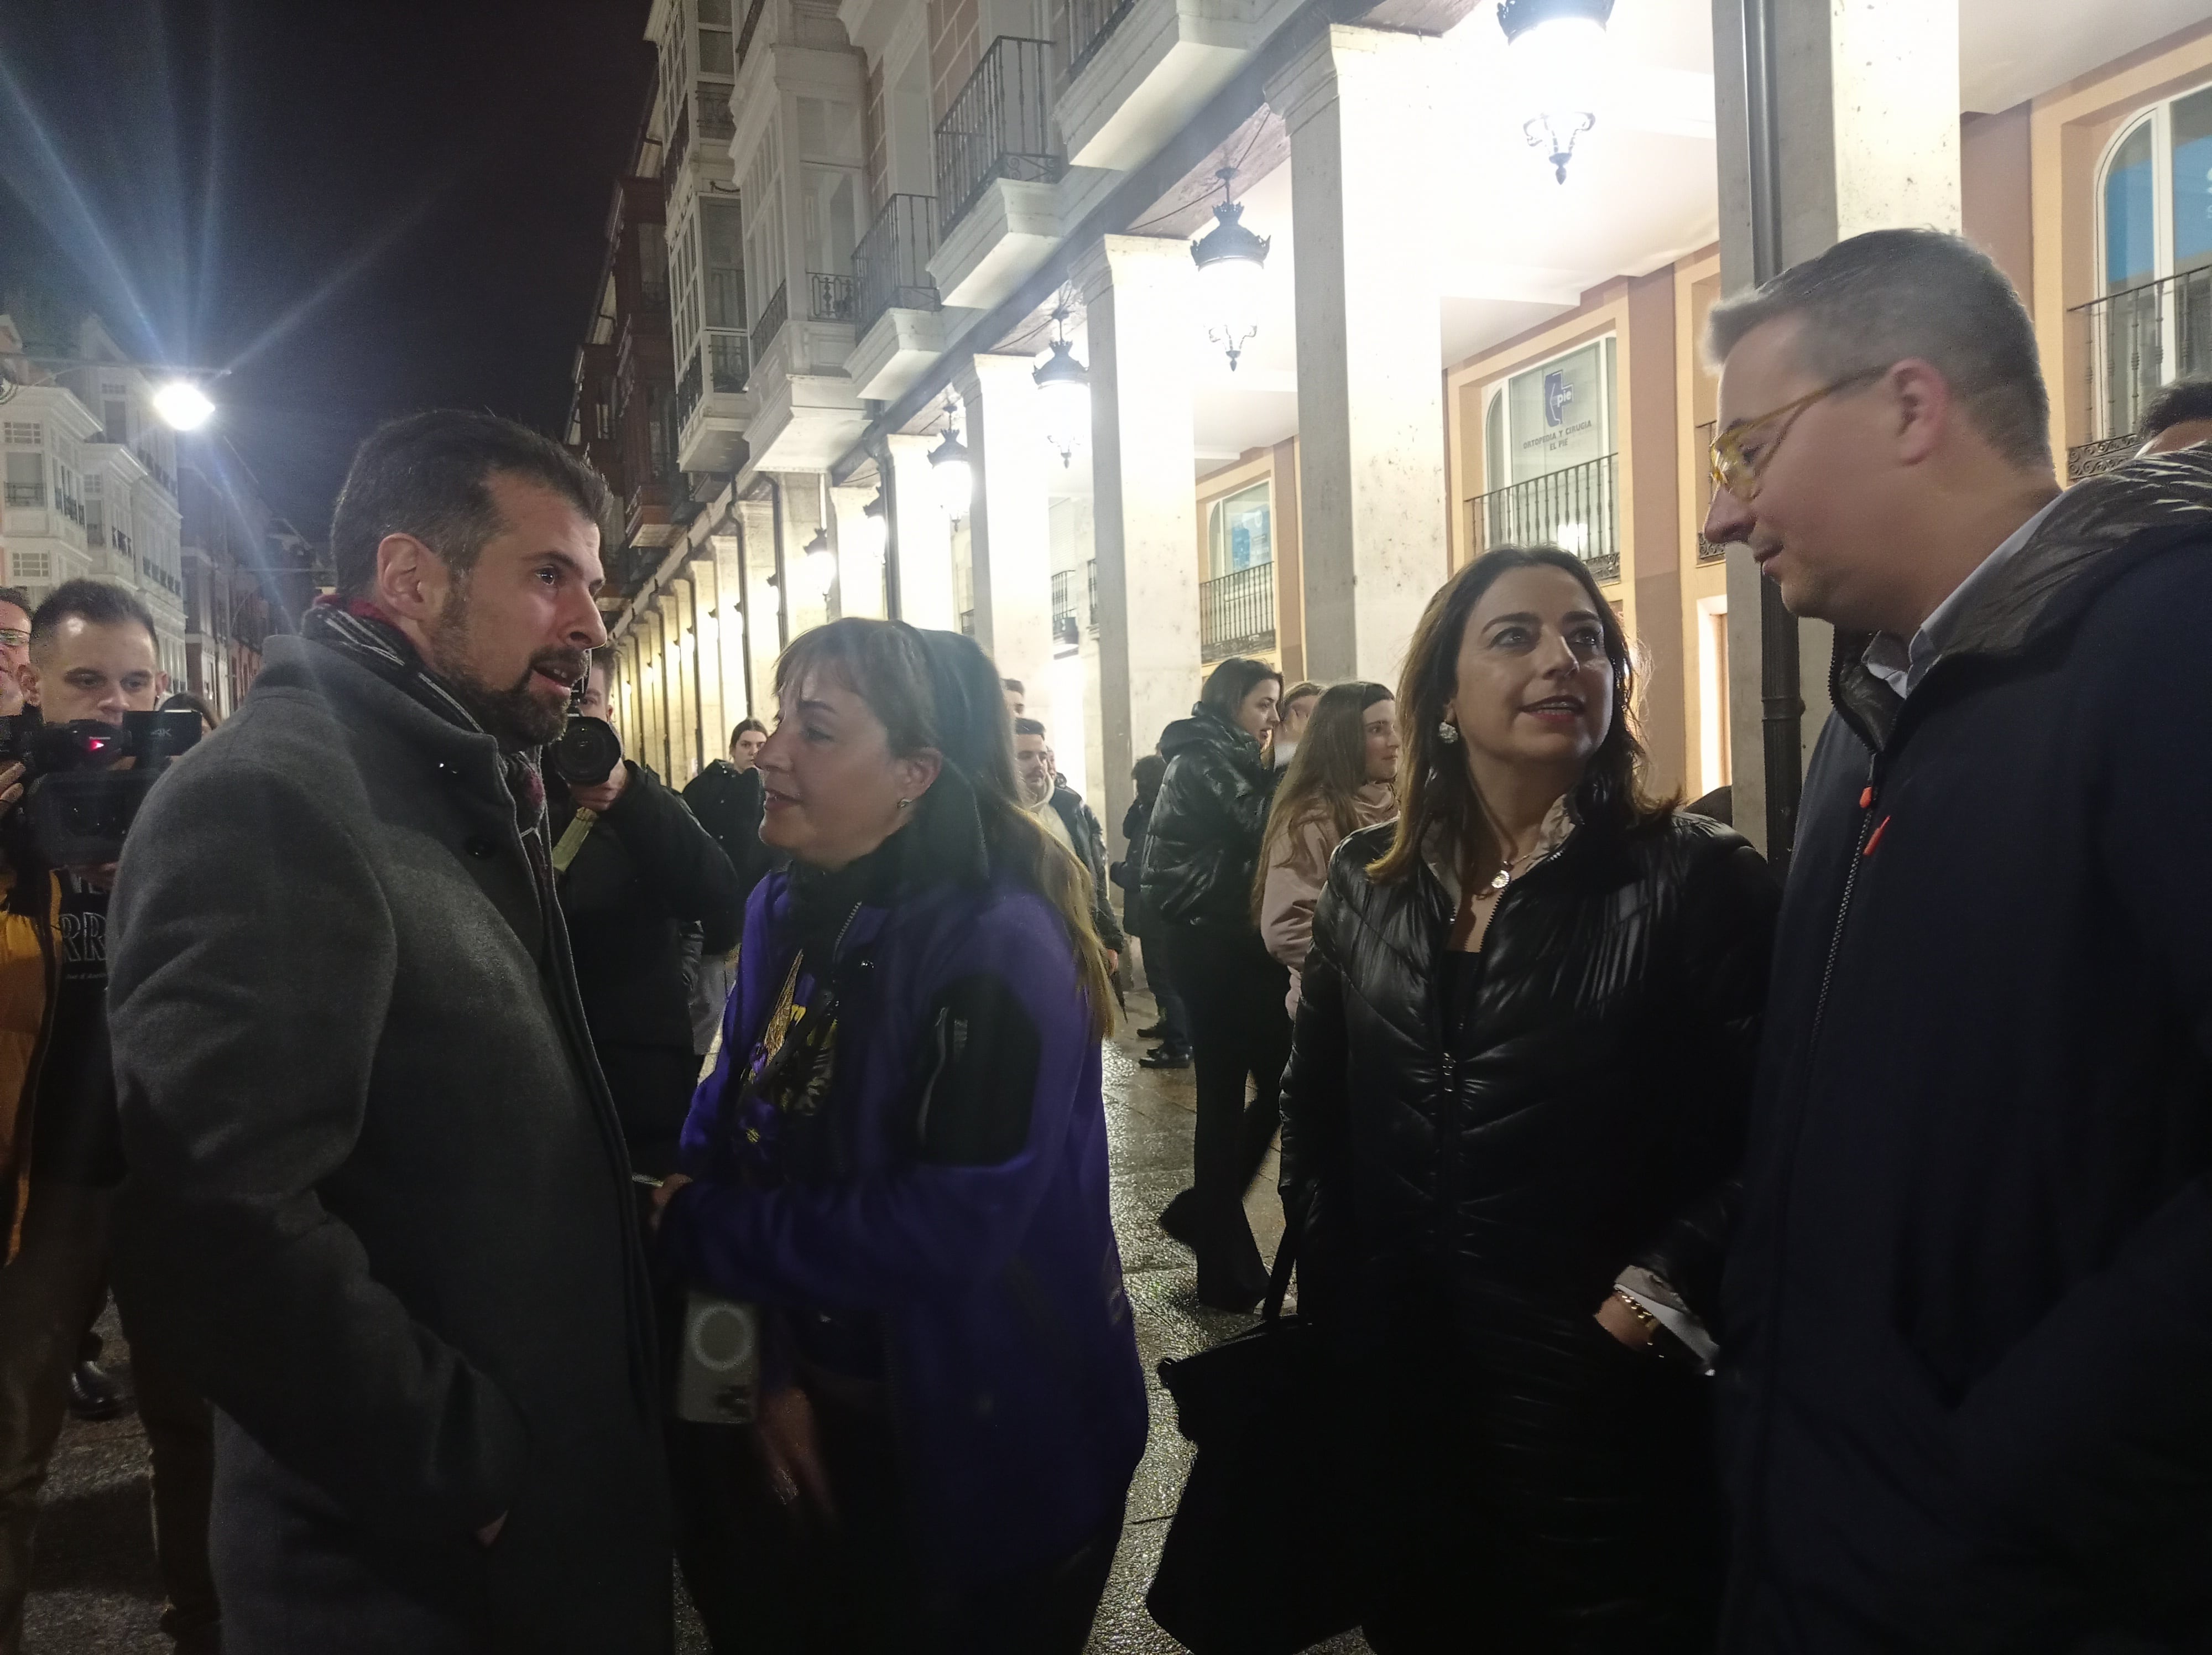
[[[1705,356],[1747,332],[1803,321],[1805,367],[1836,383],[1907,356],[1933,363],[1966,418],[2013,465],[2051,465],[2051,394],[2035,323],[1995,261],[1942,230],[1867,230],[1712,308]]]

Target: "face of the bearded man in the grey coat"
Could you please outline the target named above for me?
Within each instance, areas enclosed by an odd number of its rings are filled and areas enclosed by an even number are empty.
[[[500,531],[465,577],[434,571],[442,593],[427,655],[504,746],[540,746],[566,724],[588,650],[606,644],[599,527],[540,482],[493,473],[487,487]]]

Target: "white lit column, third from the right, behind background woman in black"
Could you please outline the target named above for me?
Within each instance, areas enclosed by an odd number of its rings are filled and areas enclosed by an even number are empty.
[[[1130,766],[1190,712],[1199,664],[1190,440],[1194,268],[1186,241],[1106,237],[1073,270],[1091,345],[1091,527],[1099,564],[1099,819],[1121,850]],[[1079,571],[1077,571],[1079,573]]]

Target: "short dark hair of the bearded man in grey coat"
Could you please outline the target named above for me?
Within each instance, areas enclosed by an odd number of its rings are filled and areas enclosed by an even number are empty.
[[[562,496],[608,535],[606,482],[560,443],[495,414],[434,409],[376,427],[354,449],[354,465],[330,518],[330,558],[338,591],[358,597],[376,584],[376,547],[414,535],[456,575],[504,527],[487,487],[493,476],[535,482]]]

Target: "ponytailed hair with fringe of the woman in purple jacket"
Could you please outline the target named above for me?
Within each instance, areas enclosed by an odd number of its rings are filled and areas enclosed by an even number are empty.
[[[960,832],[956,821],[958,812],[973,810],[991,867],[1015,870],[1060,912],[1075,947],[1075,978],[1091,1007],[1091,1029],[1102,1040],[1113,1033],[1113,978],[1091,918],[1091,872],[1022,808],[1013,719],[991,657],[958,633],[845,617],[790,642],[776,659],[776,695],[810,673],[825,673],[867,701],[894,757],[933,750],[945,759],[938,781],[916,805],[916,819],[900,832],[920,834],[931,845],[922,854],[973,843],[973,830]]]

